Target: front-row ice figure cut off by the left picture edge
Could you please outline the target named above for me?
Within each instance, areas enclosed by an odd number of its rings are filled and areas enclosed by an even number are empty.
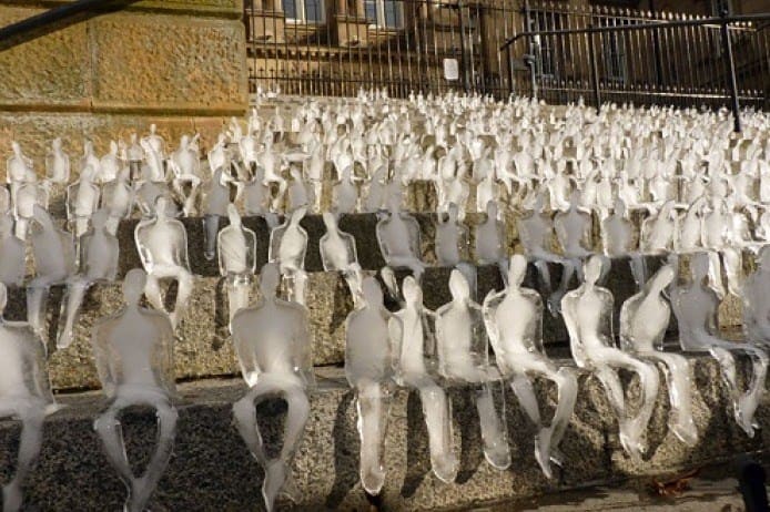
[[[7,321],[8,303],[0,284],[0,417],[21,421],[21,439],[16,474],[2,487],[3,512],[21,510],[22,485],[40,453],[43,419],[60,409],[53,401],[45,370],[45,347],[26,322]]]

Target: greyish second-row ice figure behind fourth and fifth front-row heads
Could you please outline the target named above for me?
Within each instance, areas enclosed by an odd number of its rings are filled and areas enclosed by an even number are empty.
[[[407,213],[402,213],[398,203],[391,202],[388,215],[377,223],[377,243],[387,266],[406,267],[419,283],[425,264],[421,260],[419,224]]]

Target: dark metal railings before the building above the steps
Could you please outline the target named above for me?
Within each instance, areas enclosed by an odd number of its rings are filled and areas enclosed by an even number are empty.
[[[596,75],[609,101],[713,106],[730,100],[719,24],[624,29],[699,20],[692,16],[536,0],[246,0],[245,20],[252,91],[355,95],[359,88],[385,88],[406,96],[454,90],[564,103],[592,101]],[[609,31],[553,33],[590,27]],[[739,99],[761,106],[770,30],[750,22],[728,30]],[[523,33],[530,35],[501,50]]]

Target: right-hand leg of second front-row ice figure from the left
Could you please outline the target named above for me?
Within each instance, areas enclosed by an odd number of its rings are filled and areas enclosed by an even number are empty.
[[[158,417],[158,446],[142,477],[132,482],[130,511],[142,512],[155,491],[163,471],[169,465],[176,437],[178,413],[169,402],[154,405]]]

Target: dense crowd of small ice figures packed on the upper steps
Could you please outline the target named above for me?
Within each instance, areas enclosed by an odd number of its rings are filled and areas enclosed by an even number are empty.
[[[68,193],[68,215],[82,233],[100,203],[99,186],[109,197],[101,204],[116,218],[131,214],[129,191],[136,192],[144,214],[160,194],[179,203],[184,215],[224,215],[231,195],[249,215],[300,206],[321,212],[327,209],[325,182],[336,213],[386,208],[406,185],[421,181],[433,183],[439,212],[454,203],[460,216],[474,203],[478,212],[493,199],[516,205],[533,188],[547,188],[553,206],[566,209],[573,186],[581,191],[582,206],[601,216],[616,197],[631,211],[658,211],[668,202],[696,205],[708,187],[727,187],[731,206],[753,218],[770,201],[764,113],[744,112],[744,130],[733,134],[726,111],[605,105],[597,114],[579,103],[557,113],[524,99],[367,98],[311,100],[291,112],[276,106],[266,120],[255,109],[245,127],[233,117],[216,141],[183,135],[173,151],[155,125],[141,137],[113,141],[101,157],[87,141]],[[31,204],[68,184],[75,174],[70,161],[62,141],[54,140],[39,183],[33,162],[14,143],[7,172],[14,212],[29,218]]]

